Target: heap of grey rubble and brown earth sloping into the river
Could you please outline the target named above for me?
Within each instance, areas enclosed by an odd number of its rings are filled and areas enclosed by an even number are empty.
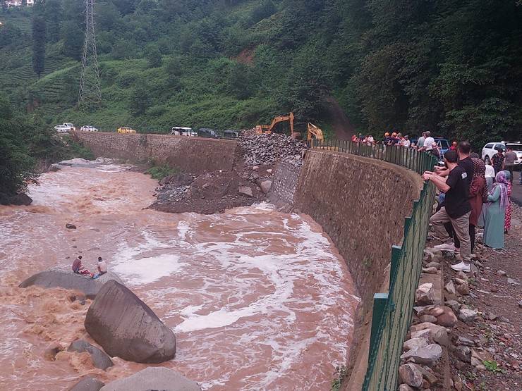
[[[159,182],[150,209],[170,213],[211,214],[265,200],[272,187],[274,165],[303,164],[306,143],[285,135],[241,135],[233,169],[199,176],[169,175]]]

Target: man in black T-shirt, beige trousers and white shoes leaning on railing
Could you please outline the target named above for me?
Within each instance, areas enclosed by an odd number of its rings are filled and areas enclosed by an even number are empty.
[[[426,171],[423,174],[424,180],[431,180],[435,186],[446,193],[444,205],[442,208],[430,218],[435,236],[437,239],[449,239],[444,224],[451,222],[455,235],[461,242],[461,259],[460,263],[452,265],[455,271],[470,271],[471,259],[471,240],[469,236],[469,217],[471,214],[471,204],[468,200],[469,182],[466,171],[457,164],[458,156],[456,151],[447,151],[444,156],[449,174],[447,178]]]

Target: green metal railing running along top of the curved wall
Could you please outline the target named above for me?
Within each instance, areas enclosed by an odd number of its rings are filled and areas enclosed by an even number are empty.
[[[365,145],[351,141],[314,141],[310,147],[358,156],[366,156],[394,163],[422,174],[437,164],[435,156],[416,149]],[[422,269],[423,250],[432,206],[435,186],[425,182],[418,200],[413,201],[413,211],[404,221],[404,236],[400,246],[391,247],[389,290],[373,297],[372,329],[368,368],[364,391],[391,391],[397,388],[397,374],[401,360],[404,337],[411,324],[415,290]]]

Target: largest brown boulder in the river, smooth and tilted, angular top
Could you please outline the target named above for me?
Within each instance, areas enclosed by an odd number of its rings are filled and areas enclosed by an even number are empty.
[[[176,335],[154,311],[114,280],[99,290],[85,316],[85,330],[110,356],[138,363],[174,358]]]

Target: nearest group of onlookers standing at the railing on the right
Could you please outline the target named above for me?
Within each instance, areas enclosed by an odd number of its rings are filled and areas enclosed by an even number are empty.
[[[452,147],[444,154],[444,167],[426,171],[423,178],[432,181],[440,192],[437,212],[430,218],[433,237],[442,242],[435,247],[459,254],[461,262],[451,268],[468,272],[475,227],[484,228],[487,247],[504,248],[504,233],[511,228],[512,175],[504,170],[502,151],[492,159],[491,166],[471,153],[467,141]]]

